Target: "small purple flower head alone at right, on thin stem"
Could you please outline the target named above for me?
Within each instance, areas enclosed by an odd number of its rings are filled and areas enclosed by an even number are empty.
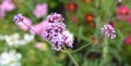
[[[102,28],[102,31],[104,32],[105,36],[107,36],[110,39],[116,38],[115,28],[109,24],[104,25],[104,27]]]

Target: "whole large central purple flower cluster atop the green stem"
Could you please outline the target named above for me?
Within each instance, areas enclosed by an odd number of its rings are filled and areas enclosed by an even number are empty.
[[[47,16],[46,26],[41,34],[43,38],[52,44],[53,50],[61,50],[63,44],[71,47],[73,43],[73,35],[66,30],[66,25],[62,23],[61,14],[51,13]]]

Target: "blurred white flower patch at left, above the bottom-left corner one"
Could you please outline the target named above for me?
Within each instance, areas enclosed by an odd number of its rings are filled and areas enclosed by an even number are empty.
[[[4,40],[8,43],[8,45],[10,45],[10,47],[12,47],[12,45],[14,45],[14,47],[25,45],[28,42],[34,40],[34,35],[25,34],[24,38],[21,39],[20,35],[15,32],[15,34],[13,34],[11,36],[5,35]]]

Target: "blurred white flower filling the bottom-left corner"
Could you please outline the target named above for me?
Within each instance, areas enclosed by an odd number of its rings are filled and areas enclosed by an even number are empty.
[[[22,55],[16,53],[15,50],[10,52],[2,52],[0,55],[0,66],[21,66]]]

